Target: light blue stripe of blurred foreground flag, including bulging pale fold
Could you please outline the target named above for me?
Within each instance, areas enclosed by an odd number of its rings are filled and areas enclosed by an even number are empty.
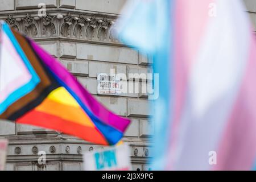
[[[172,8],[173,1],[141,1],[125,20],[119,32],[125,44],[138,46],[139,51],[154,55],[154,73],[159,74],[159,97],[151,106],[154,113],[154,147],[152,167],[156,170],[166,166],[167,147],[170,144],[170,118],[172,115]],[[170,61],[171,60],[171,61]]]

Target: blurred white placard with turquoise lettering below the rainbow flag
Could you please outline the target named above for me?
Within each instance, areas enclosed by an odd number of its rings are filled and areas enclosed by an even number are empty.
[[[84,154],[85,171],[130,171],[130,148],[126,144]]]

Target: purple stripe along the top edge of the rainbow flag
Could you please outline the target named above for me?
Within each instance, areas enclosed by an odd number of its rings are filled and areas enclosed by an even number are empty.
[[[121,131],[122,133],[125,132],[130,123],[129,119],[119,117],[118,115],[115,115],[107,110],[95,98],[93,98],[78,81],[76,81],[75,77],[73,77],[71,73],[69,73],[67,69],[63,67],[63,65],[53,59],[53,57],[40,48],[34,41],[30,40],[30,42],[31,46],[34,48],[34,51],[44,61],[47,67],[51,69],[51,71],[55,73],[60,80],[62,80],[67,86],[69,86],[69,88],[73,90],[73,92],[77,94],[85,106],[88,107],[98,119]]]

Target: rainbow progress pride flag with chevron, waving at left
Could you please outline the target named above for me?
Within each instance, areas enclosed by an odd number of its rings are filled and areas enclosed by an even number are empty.
[[[45,127],[103,145],[130,121],[99,104],[32,40],[0,23],[0,118]]]

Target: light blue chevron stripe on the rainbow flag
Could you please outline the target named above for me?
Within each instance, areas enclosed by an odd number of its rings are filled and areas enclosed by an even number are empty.
[[[19,100],[19,98],[30,93],[36,87],[36,85],[38,85],[40,82],[40,78],[38,77],[34,68],[30,64],[30,61],[28,61],[26,55],[22,51],[22,48],[20,48],[19,43],[15,39],[15,36],[11,32],[7,23],[2,24],[2,30],[3,30],[3,33],[5,33],[9,37],[11,42],[13,43],[13,46],[15,47],[16,51],[18,52],[19,56],[22,58],[24,64],[26,65],[28,71],[30,72],[32,78],[27,84],[21,86],[19,89],[15,90],[13,93],[11,93],[6,98],[6,100],[0,104],[0,114],[2,114],[15,101]]]

